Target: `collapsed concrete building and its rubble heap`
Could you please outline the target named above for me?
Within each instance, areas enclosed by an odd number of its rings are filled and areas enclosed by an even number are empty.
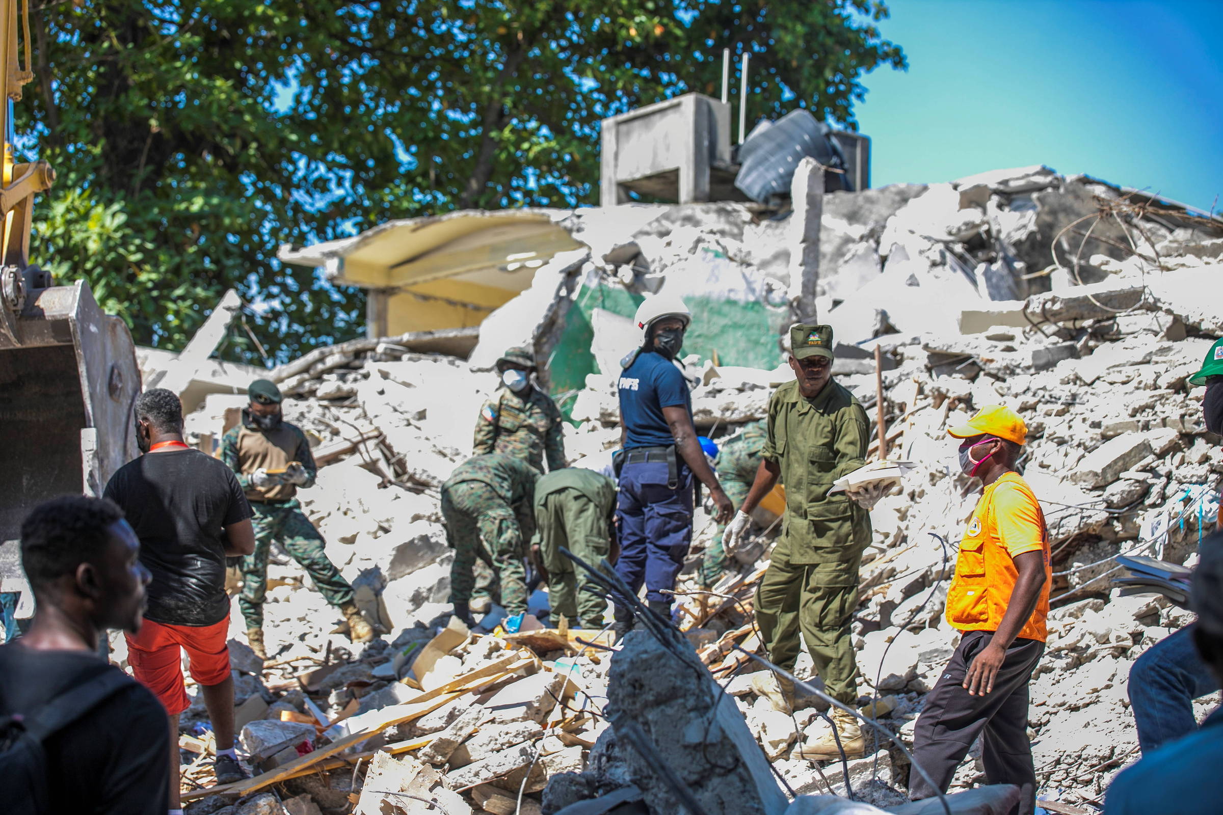
[[[1223,335],[1223,221],[1041,166],[833,193],[818,172],[800,167],[780,208],[456,213],[283,250],[373,291],[367,338],[270,376],[322,467],[303,507],[384,637],[357,651],[329,633],[325,601],[274,557],[268,662],[241,659],[245,645],[231,641],[254,777],[208,788],[207,764],[192,761],[187,811],[673,813],[678,788],[709,813],[781,811],[788,792],[917,811],[904,809],[910,767],[896,742],[911,743],[953,650],[943,602],[976,499],[945,428],[998,402],[1029,425],[1022,466],[1053,550],[1051,637],[1030,712],[1040,797],[1051,811],[1097,811],[1112,775],[1137,758],[1129,668],[1191,619],[1163,596],[1113,587],[1113,558],[1192,565],[1218,512],[1219,440],[1186,380]],[[866,759],[804,760],[821,705],[786,716],[750,687],[768,518],[711,598],[692,577],[714,528],[698,510],[674,641],[634,634],[613,655],[605,633],[564,623],[439,632],[451,554],[438,488],[470,455],[493,362],[532,347],[569,419],[569,458],[610,448],[618,360],[640,340],[629,316],[659,292],[696,315],[685,363],[697,426],[715,441],[763,418],[790,379],[784,329],[806,294],[834,326],[838,381],[882,413],[872,452],[882,444],[915,464],[903,494],[871,512],[854,618],[860,701],[895,740],[879,736]],[[243,401],[202,396],[187,420],[193,444],[212,451]],[[543,604],[537,593],[538,615]],[[121,660],[121,638],[115,648]],[[665,659],[669,698],[626,690],[641,692],[648,677],[637,672]],[[1217,701],[1199,700],[1199,712]],[[182,717],[182,747],[201,759],[207,737],[191,732],[203,716],[197,700]],[[711,754],[734,760],[711,766]],[[980,761],[966,761],[953,792],[982,778]],[[975,802],[959,811],[1004,811]]]

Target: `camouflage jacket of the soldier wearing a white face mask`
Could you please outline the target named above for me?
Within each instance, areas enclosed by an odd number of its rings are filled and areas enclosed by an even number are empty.
[[[565,439],[560,408],[552,397],[534,385],[519,396],[508,387],[498,389],[493,398],[484,402],[476,419],[476,437],[472,455],[505,453],[525,459],[543,473],[543,459],[548,469],[565,466]]]

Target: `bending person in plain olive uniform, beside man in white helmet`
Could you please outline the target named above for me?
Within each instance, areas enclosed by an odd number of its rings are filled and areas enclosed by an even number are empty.
[[[553,470],[536,483],[534,516],[553,619],[564,615],[582,628],[603,628],[603,591],[560,547],[596,567],[612,554],[615,481],[591,469]]]

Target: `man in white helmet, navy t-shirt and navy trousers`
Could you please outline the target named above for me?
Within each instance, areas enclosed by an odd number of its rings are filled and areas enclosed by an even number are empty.
[[[638,308],[635,323],[642,345],[620,365],[620,446],[616,517],[620,560],[616,572],[635,591],[646,584],[652,611],[670,619],[675,577],[692,541],[693,477],[709,489],[725,523],[734,506],[706,461],[692,425],[692,397],[674,359],[692,314],[678,297],[654,296]],[[618,637],[632,626],[632,613],[615,609]]]

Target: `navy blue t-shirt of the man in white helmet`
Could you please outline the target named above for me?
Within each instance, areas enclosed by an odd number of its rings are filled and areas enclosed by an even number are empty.
[[[682,407],[692,415],[687,380],[675,363],[660,353],[640,353],[620,371],[620,420],[627,431],[625,450],[675,444],[663,418],[664,407]]]

